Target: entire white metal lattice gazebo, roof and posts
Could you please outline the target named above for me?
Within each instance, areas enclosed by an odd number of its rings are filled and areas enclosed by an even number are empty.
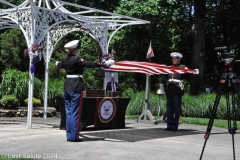
[[[56,44],[68,33],[82,31],[99,45],[102,55],[108,53],[114,34],[129,25],[149,24],[149,21],[106,12],[61,0],[25,0],[20,5],[0,0],[7,9],[0,8],[0,29],[17,28],[22,31],[28,45],[30,66],[36,58],[45,61],[44,114],[47,118],[48,68]],[[71,12],[67,8],[74,8]],[[34,46],[33,46],[34,45]],[[44,48],[39,48],[44,46]],[[32,48],[34,47],[34,48]],[[27,128],[32,128],[34,72],[29,71]]]

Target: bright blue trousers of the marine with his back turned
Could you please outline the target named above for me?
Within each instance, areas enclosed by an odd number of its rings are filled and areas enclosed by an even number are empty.
[[[82,110],[82,94],[80,92],[64,92],[66,109],[66,134],[68,140],[79,139],[79,127]]]

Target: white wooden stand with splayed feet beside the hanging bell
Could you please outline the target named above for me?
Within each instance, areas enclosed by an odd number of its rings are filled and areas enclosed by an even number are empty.
[[[162,122],[163,120],[155,120],[152,113],[149,110],[150,84],[151,84],[151,77],[150,77],[150,75],[146,74],[145,107],[144,107],[143,112],[138,117],[137,122],[158,124],[159,122]]]

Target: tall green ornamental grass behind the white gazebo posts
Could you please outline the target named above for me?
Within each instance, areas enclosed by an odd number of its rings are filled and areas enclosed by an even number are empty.
[[[39,97],[44,101],[44,80],[34,77],[34,97]],[[64,76],[61,79],[48,80],[48,105],[56,106],[55,96],[63,95]],[[19,100],[20,105],[25,105],[24,101],[28,97],[29,72],[21,72],[16,69],[6,69],[3,73],[2,84],[0,85],[0,96],[14,95]],[[1,98],[0,97],[0,98]],[[40,105],[40,104],[37,104]]]

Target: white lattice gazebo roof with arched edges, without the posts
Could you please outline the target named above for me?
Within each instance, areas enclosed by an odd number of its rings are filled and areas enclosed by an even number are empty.
[[[0,0],[0,3],[5,4],[7,8],[0,9],[0,29],[21,29],[28,46],[32,42],[41,43],[48,31],[55,29],[59,32],[59,28],[61,28],[60,31],[64,30],[64,34],[58,36],[52,42],[53,47],[65,34],[80,30],[90,34],[99,43],[102,53],[107,54],[109,43],[119,29],[129,25],[150,23],[146,20],[61,0],[39,0],[38,3],[35,0],[26,0],[20,5]],[[31,22],[34,20],[32,19],[35,20],[34,31],[29,27],[33,25]],[[110,34],[109,30],[111,31]],[[34,39],[31,41],[31,38],[33,38],[31,37],[32,32],[34,32]]]

